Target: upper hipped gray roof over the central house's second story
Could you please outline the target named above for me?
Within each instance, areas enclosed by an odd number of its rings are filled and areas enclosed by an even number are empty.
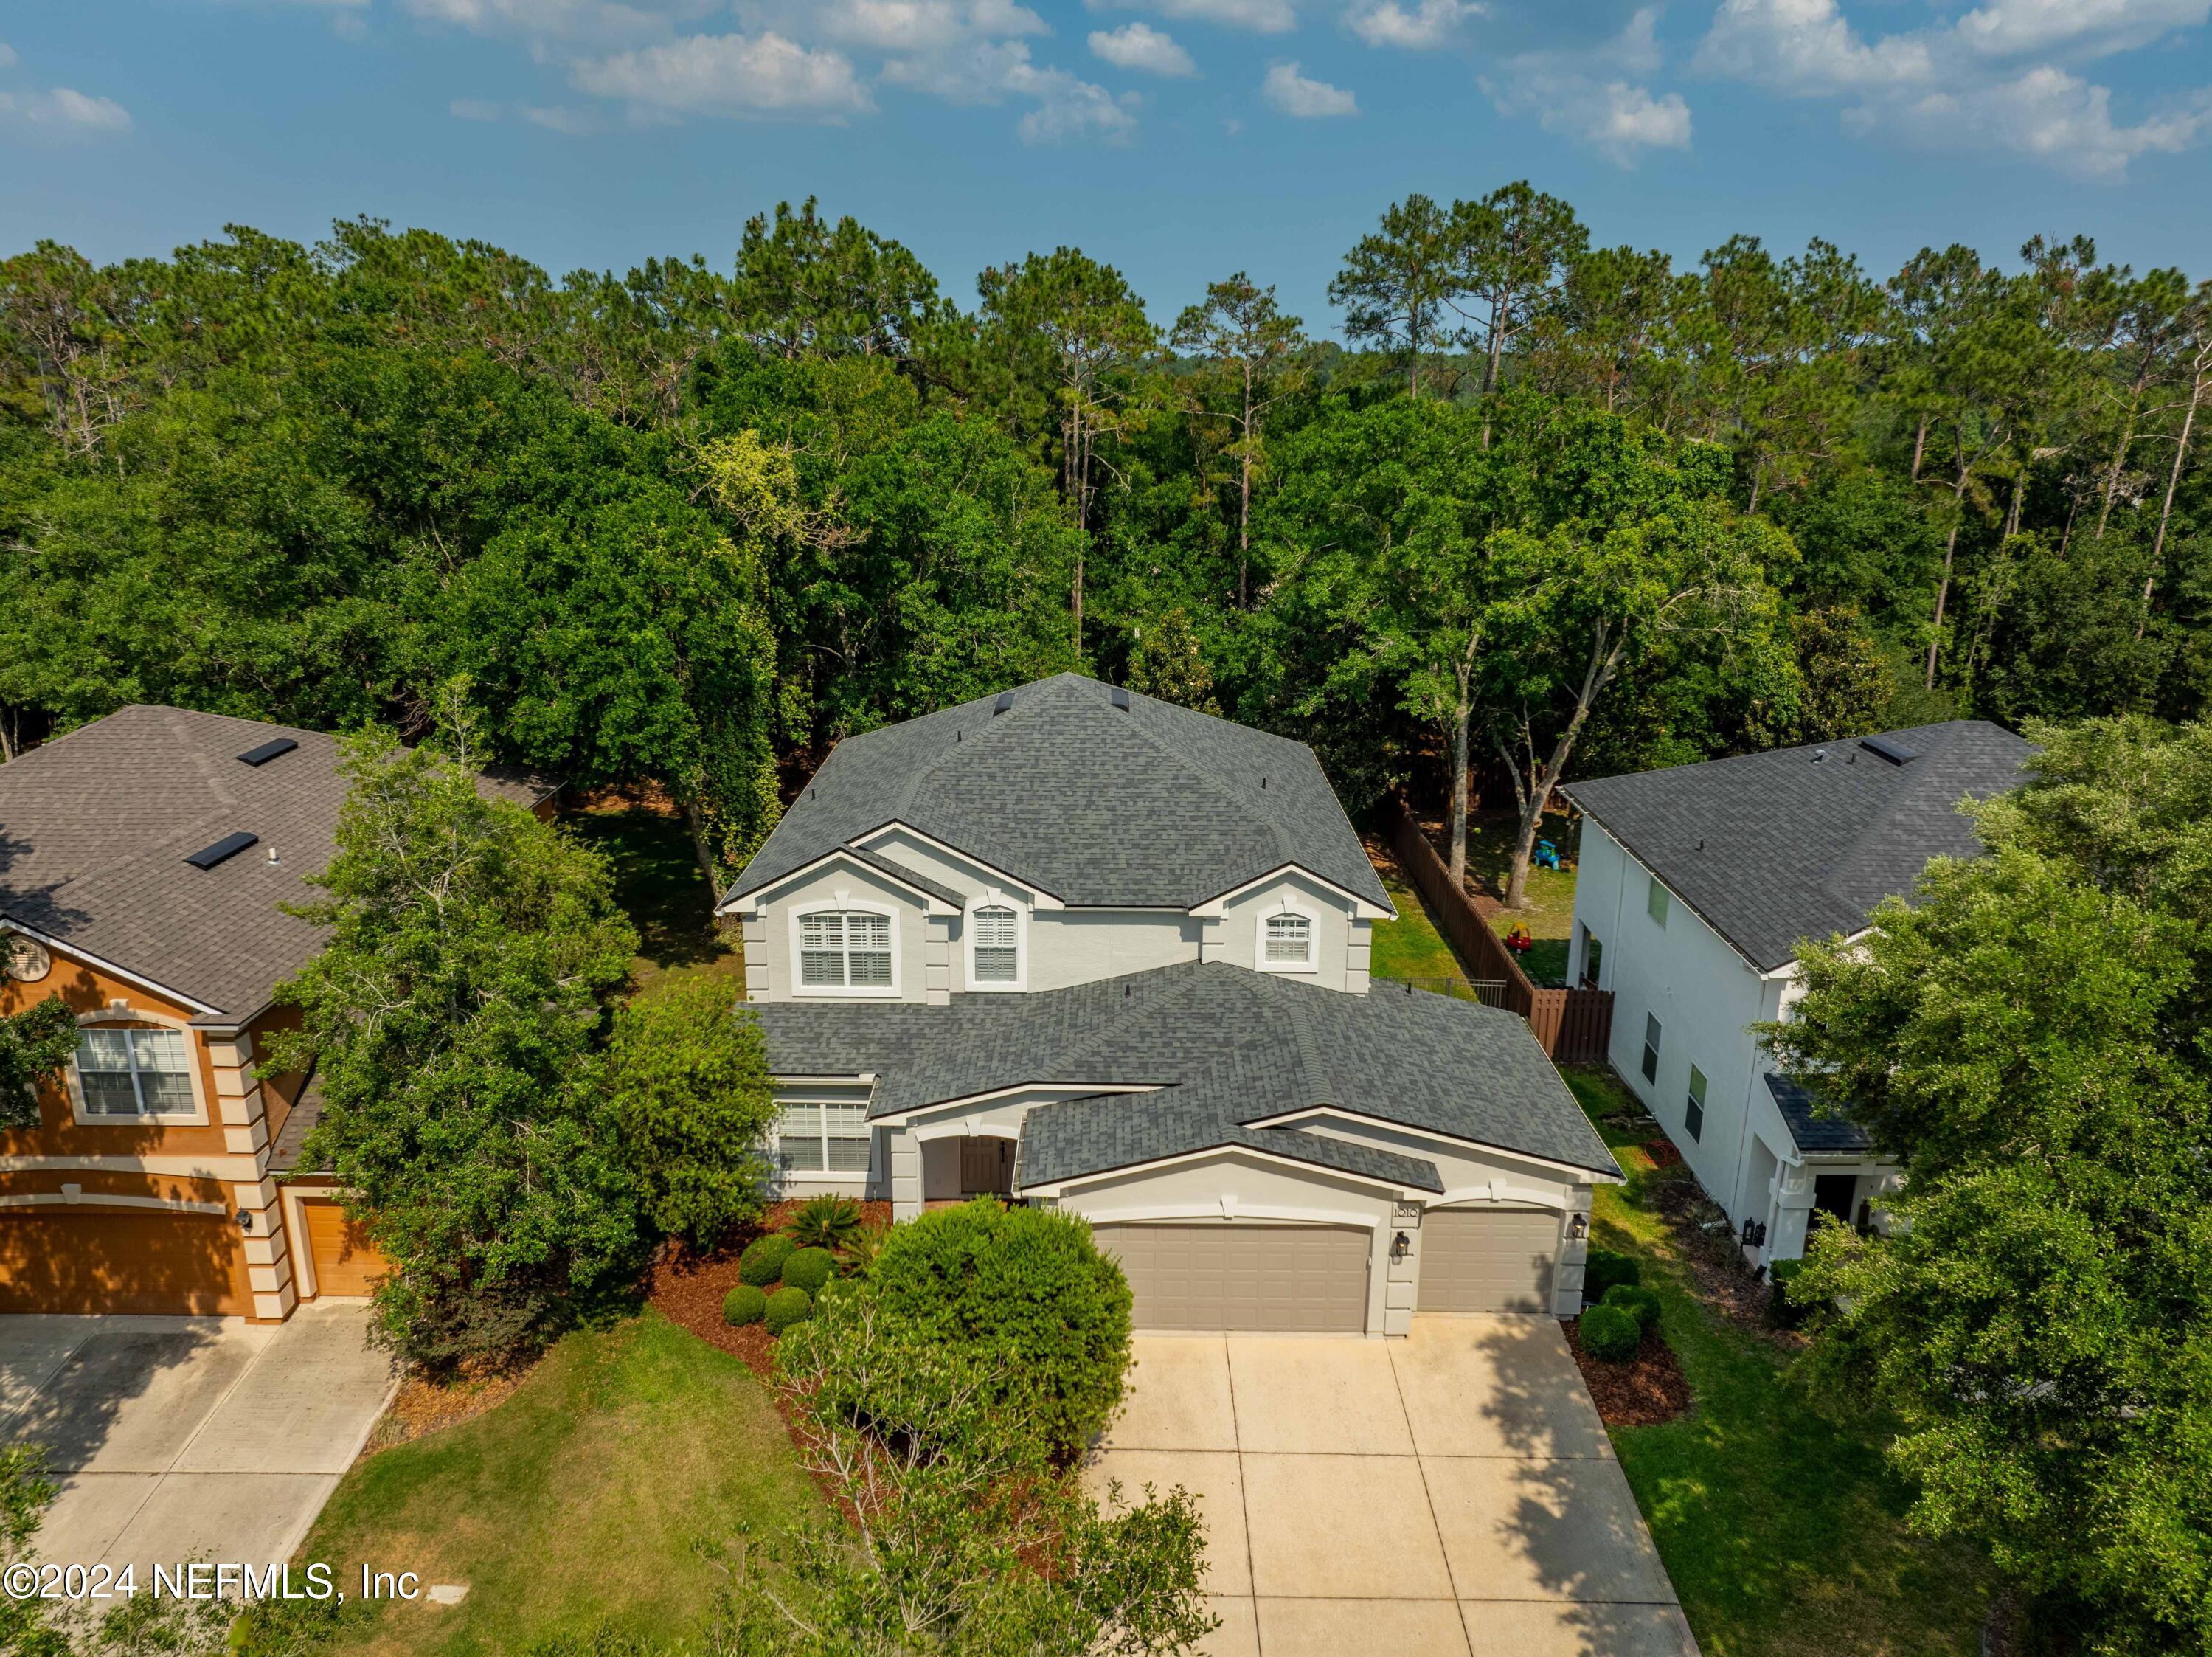
[[[907,823],[1062,903],[1188,909],[1285,863],[1389,907],[1305,743],[1062,673],[847,737],[728,896]]]

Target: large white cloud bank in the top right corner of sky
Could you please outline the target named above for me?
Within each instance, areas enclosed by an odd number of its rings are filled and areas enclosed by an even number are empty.
[[[1697,62],[1792,97],[1849,97],[1845,128],[1858,135],[2011,150],[2112,179],[2139,155],[2212,139],[2212,88],[2128,124],[2110,86],[2033,58],[2128,51],[2208,15],[2212,0],[1989,0],[1958,22],[1867,42],[1836,0],[1723,0]]]

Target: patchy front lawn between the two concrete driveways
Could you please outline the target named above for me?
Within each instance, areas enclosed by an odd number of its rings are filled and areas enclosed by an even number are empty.
[[[566,1336],[476,1420],[356,1462],[303,1557],[349,1599],[363,1564],[469,1588],[451,1608],[349,1602],[334,1650],[518,1653],[599,1624],[679,1639],[721,1582],[695,1542],[818,1511],[759,1378],[648,1310]]]

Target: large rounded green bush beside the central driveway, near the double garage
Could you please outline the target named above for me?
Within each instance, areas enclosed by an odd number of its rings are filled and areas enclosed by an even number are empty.
[[[1035,1407],[1060,1456],[1121,1403],[1128,1283],[1073,1215],[940,1208],[891,1228],[869,1283],[883,1310],[987,1354],[1002,1394]]]

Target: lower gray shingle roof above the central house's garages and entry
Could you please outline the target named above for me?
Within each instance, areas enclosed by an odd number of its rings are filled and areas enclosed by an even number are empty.
[[[1188,1144],[1194,1133],[1245,1144],[1243,1135],[1279,1133],[1250,1124],[1316,1104],[1615,1173],[1520,1018],[1427,991],[1347,996],[1228,962],[1186,962],[1029,996],[956,996],[947,1007],[768,1002],[748,1011],[761,1020],[779,1075],[874,1073],[872,1117],[1011,1086],[1152,1088],[1086,1100],[1073,1113],[1053,1106],[1062,1111],[1048,1130],[1057,1137],[1035,1155],[1024,1150],[1031,1181],[1071,1177],[1037,1168],[1097,1155],[1130,1150],[1148,1161],[1206,1148]],[[1334,1153],[1307,1150],[1305,1159],[1314,1155]],[[1104,1166],[1126,1164],[1084,1173]]]

